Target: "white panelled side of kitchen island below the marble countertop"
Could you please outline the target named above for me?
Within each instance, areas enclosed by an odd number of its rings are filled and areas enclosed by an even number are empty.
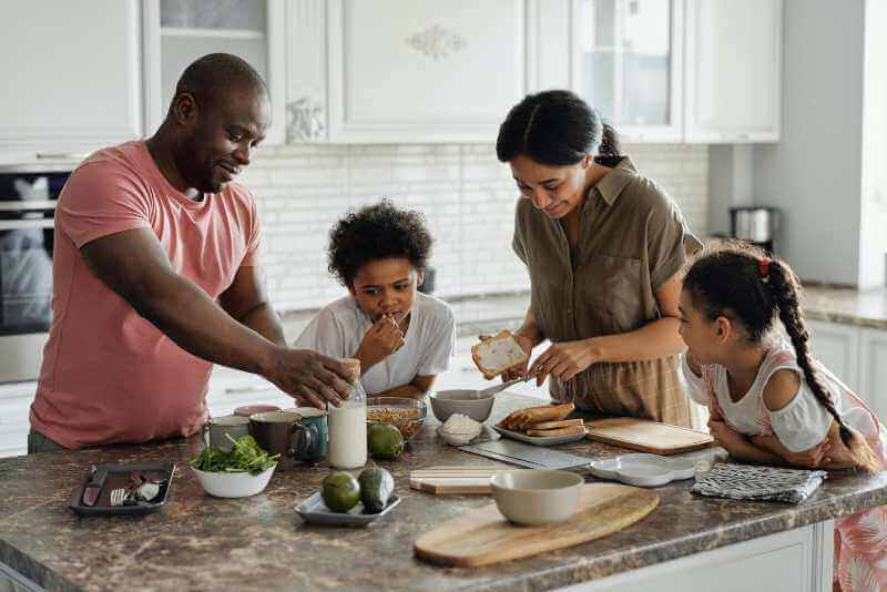
[[[832,590],[834,522],[703,551],[593,582],[570,592],[827,592]]]

